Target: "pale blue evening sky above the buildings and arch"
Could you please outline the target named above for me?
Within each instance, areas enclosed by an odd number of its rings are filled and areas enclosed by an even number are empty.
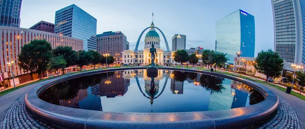
[[[97,19],[97,34],[105,31],[124,33],[131,50],[144,28],[150,26],[153,12],[154,24],[163,31],[170,49],[175,34],[187,36],[187,49],[197,46],[215,49],[216,21],[241,9],[255,17],[255,55],[261,50],[273,49],[273,16],[269,0],[23,0],[20,26],[29,28],[41,20],[54,23],[55,12],[72,4]],[[139,49],[144,49],[146,33]],[[166,49],[161,33],[159,35],[161,48]]]

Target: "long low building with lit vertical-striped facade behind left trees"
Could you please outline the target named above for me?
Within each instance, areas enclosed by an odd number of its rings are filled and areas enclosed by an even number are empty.
[[[0,73],[4,74],[4,79],[10,78],[10,67],[6,65],[6,62],[14,60],[13,73],[15,84],[26,82],[31,80],[31,76],[28,72],[24,72],[18,66],[18,54],[21,52],[21,47],[25,44],[30,43],[32,40],[46,40],[54,49],[57,46],[70,46],[73,50],[78,51],[83,49],[83,41],[76,38],[67,36],[60,36],[54,33],[48,33],[45,31],[0,26]],[[23,77],[26,76],[26,77]],[[33,78],[32,78],[33,79]],[[11,81],[12,83],[13,81]],[[10,83],[8,83],[10,85]]]

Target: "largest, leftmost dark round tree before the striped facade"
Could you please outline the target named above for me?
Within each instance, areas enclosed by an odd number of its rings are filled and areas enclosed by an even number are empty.
[[[33,40],[21,47],[18,66],[23,71],[39,74],[41,79],[41,73],[48,69],[48,63],[52,57],[51,50],[51,44],[46,40]]]

